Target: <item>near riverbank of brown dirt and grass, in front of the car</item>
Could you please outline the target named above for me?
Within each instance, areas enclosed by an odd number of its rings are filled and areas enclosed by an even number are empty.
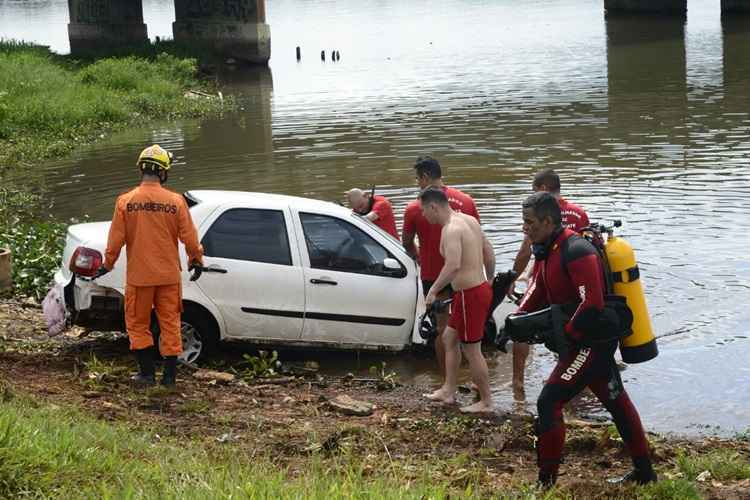
[[[650,434],[660,481],[617,487],[630,463],[614,427],[568,419],[559,487],[542,492],[525,414],[465,416],[426,404],[426,387],[295,372],[304,360],[259,379],[237,345],[211,365],[234,381],[180,367],[178,391],[139,391],[126,339],[44,332],[38,308],[0,301],[0,497],[750,497],[746,434]],[[374,411],[341,414],[341,395]]]

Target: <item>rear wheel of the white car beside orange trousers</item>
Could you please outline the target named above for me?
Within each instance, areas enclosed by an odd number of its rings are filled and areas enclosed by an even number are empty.
[[[219,346],[219,331],[211,313],[205,309],[185,304],[181,315],[182,354],[178,359],[183,363],[194,364],[216,352]],[[151,332],[154,344],[159,345],[159,322],[151,319]]]

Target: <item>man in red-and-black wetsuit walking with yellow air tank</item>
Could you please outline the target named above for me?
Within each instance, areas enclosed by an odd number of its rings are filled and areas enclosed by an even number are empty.
[[[560,207],[549,193],[536,193],[524,201],[523,230],[531,240],[536,262],[518,312],[578,303],[564,325],[567,347],[559,349],[560,358],[537,401],[540,484],[548,487],[557,480],[565,443],[563,406],[585,387],[612,415],[635,466],[628,475],[613,482],[656,481],[641,420],[615,364],[618,340],[608,340],[610,332],[592,328],[601,324],[599,318],[605,305],[603,266],[596,249],[574,231],[563,228]]]

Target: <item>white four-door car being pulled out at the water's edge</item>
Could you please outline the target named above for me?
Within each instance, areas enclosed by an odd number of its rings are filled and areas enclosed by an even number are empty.
[[[182,273],[183,361],[194,362],[222,339],[389,351],[421,342],[418,268],[399,241],[367,219],[292,196],[208,190],[184,196],[210,271],[197,281]],[[74,324],[124,331],[127,247],[112,272],[95,281],[71,270],[96,271],[109,225],[68,228],[55,282],[64,287]],[[182,246],[180,253],[186,262]]]

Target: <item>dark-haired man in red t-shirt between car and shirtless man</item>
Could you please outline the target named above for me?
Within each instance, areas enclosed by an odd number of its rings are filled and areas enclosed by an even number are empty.
[[[448,197],[448,204],[453,210],[471,215],[477,221],[479,220],[479,213],[471,196],[443,184],[442,169],[436,159],[430,156],[417,158],[414,170],[420,190],[425,190],[430,186],[442,189]],[[441,231],[442,226],[440,224],[430,224],[424,217],[422,214],[422,205],[419,200],[409,203],[404,212],[404,227],[402,229],[404,248],[419,261],[422,292],[425,296],[429,293],[432,284],[438,275],[440,275],[440,271],[445,264],[442,255],[440,255]],[[419,239],[419,246],[414,241],[415,236]],[[493,261],[491,266],[486,262],[485,267],[494,269],[494,254],[492,252],[490,254]],[[492,276],[489,276],[488,279],[492,279]],[[450,285],[446,286],[443,290],[436,290],[436,293],[438,300],[449,297],[451,295]],[[441,374],[445,374],[445,347],[443,345],[442,334],[447,324],[448,311],[437,314],[438,336],[435,339],[435,356],[437,357]]]

